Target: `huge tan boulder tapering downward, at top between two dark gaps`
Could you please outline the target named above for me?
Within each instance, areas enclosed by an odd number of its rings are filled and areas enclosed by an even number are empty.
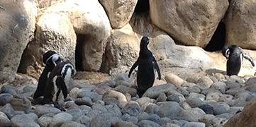
[[[186,45],[206,47],[228,9],[228,1],[150,0],[152,23]]]

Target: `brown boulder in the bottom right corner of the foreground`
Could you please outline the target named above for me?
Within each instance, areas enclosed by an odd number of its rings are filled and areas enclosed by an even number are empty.
[[[228,122],[224,125],[224,127],[255,127],[255,119],[256,119],[256,97],[248,102],[243,111],[240,114],[235,114],[231,117]]]

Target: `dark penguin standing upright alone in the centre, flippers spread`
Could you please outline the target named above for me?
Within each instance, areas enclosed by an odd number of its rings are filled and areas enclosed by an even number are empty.
[[[140,40],[140,53],[137,61],[130,68],[128,77],[130,78],[130,74],[133,70],[138,66],[137,73],[137,85],[138,85],[138,96],[142,97],[148,88],[152,87],[155,81],[155,70],[158,74],[158,79],[161,80],[160,68],[157,65],[157,61],[155,61],[155,56],[148,49],[149,44],[148,37],[142,37]]]

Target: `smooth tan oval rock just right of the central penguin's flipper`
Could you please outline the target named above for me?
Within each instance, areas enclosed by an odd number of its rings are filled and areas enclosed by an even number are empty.
[[[182,86],[184,80],[179,78],[179,76],[175,75],[174,73],[169,73],[165,76],[165,80],[167,83],[172,83],[175,87]]]

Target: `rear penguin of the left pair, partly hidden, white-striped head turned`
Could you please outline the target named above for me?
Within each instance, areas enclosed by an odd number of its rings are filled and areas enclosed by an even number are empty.
[[[60,59],[60,56],[54,51],[50,50],[43,54],[43,63],[45,63],[45,68],[43,69],[43,73],[41,73],[38,80],[38,87],[35,90],[35,94],[33,95],[34,99],[38,99],[38,97],[44,95],[46,81],[50,75],[50,72],[55,66],[57,66],[58,63],[61,62],[62,59]]]

